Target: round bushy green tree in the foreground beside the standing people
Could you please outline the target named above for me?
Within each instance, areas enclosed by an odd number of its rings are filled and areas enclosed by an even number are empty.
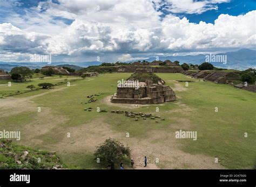
[[[126,158],[131,157],[131,150],[129,147],[125,147],[123,143],[115,139],[106,139],[104,143],[96,147],[94,153],[95,159],[100,160],[100,164],[103,167],[111,164],[117,164]]]

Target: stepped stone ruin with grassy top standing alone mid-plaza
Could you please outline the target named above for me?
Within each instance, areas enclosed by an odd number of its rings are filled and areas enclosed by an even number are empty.
[[[176,94],[160,77],[147,69],[136,69],[117,87],[112,103],[158,104],[176,100]]]

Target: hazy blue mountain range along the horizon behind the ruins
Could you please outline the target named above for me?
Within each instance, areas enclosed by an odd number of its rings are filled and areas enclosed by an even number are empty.
[[[227,52],[227,53],[219,53],[216,55],[226,55],[227,61],[224,62],[211,62],[215,67],[219,68],[227,68],[227,69],[247,69],[247,68],[256,68],[256,51],[251,49],[240,49],[236,52]],[[152,62],[156,60],[155,57],[151,57],[150,59],[146,59],[146,61]],[[206,61],[205,54],[199,55],[186,55],[186,56],[165,56],[159,57],[159,60],[171,60],[179,61],[182,63],[192,63],[192,64],[201,64]],[[136,60],[134,60],[136,61]],[[97,66],[102,62],[93,61],[93,62],[52,62],[48,64],[46,62],[0,62],[0,69],[4,69],[5,71],[10,71],[12,68],[17,66],[26,66],[31,69],[41,68],[43,66],[69,66],[73,69],[81,69],[88,66]]]

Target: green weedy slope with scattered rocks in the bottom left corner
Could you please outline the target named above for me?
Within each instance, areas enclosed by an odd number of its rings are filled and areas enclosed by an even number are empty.
[[[55,152],[31,149],[0,139],[0,169],[60,169],[64,165]]]

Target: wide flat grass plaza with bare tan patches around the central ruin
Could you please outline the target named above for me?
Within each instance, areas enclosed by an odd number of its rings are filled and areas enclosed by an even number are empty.
[[[71,82],[70,87],[63,84],[52,90],[1,98],[0,130],[21,131],[19,144],[56,150],[65,164],[76,169],[99,168],[93,160],[93,152],[109,137],[131,147],[138,169],[143,168],[145,155],[149,158],[150,169],[255,168],[255,93],[226,84],[201,82],[183,74],[157,75],[176,92],[175,102],[138,107],[112,104],[109,98],[116,92],[117,81],[130,74],[100,74]],[[6,88],[6,82],[0,82],[0,97],[3,93],[24,91],[27,84],[37,85],[39,81],[61,82],[58,78],[13,83],[11,91]],[[192,82],[186,87],[185,82],[178,81]],[[99,94],[95,97],[98,100],[85,104],[86,96],[95,94]],[[41,112],[37,112],[38,107]],[[91,112],[84,111],[88,107],[92,107]],[[107,112],[97,112],[97,107]],[[165,120],[159,123],[151,119],[135,121],[111,110],[152,113]],[[175,132],[179,130],[197,131],[197,140],[176,139]],[[125,168],[129,166],[125,164]]]

